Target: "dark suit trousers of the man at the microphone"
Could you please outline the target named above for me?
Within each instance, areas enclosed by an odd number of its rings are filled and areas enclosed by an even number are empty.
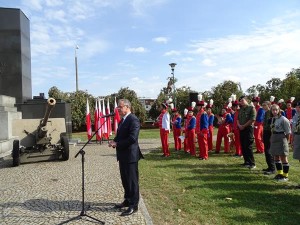
[[[128,201],[129,206],[136,207],[140,198],[138,162],[119,161],[119,169],[125,192],[124,199]]]

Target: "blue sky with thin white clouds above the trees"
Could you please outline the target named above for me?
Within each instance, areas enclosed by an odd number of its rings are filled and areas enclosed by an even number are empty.
[[[30,19],[33,95],[52,86],[97,96],[129,87],[156,98],[177,63],[177,87],[224,80],[243,91],[300,67],[297,0],[0,0]]]

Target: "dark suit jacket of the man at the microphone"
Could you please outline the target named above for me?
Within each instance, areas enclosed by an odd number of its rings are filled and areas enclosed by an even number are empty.
[[[117,160],[120,162],[137,162],[143,155],[140,151],[138,137],[140,132],[140,121],[130,113],[125,121],[119,125],[117,136],[114,141],[117,142]]]

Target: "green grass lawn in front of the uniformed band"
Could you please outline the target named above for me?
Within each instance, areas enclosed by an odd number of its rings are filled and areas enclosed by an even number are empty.
[[[215,132],[216,134],[216,132]],[[143,137],[159,137],[158,130],[141,130]],[[262,154],[257,168],[242,168],[240,158],[210,154],[200,161],[175,152],[162,158],[152,151],[140,161],[140,189],[156,224],[300,224],[300,163],[290,155],[290,181],[265,176]]]

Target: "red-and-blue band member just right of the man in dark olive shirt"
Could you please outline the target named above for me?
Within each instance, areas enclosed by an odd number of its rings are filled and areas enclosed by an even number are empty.
[[[256,110],[256,119],[254,122],[254,139],[255,139],[255,145],[256,145],[256,153],[264,153],[265,147],[263,142],[263,122],[265,117],[265,110],[260,106],[259,104],[260,97],[258,97],[258,94],[255,95],[252,98],[253,105]]]

